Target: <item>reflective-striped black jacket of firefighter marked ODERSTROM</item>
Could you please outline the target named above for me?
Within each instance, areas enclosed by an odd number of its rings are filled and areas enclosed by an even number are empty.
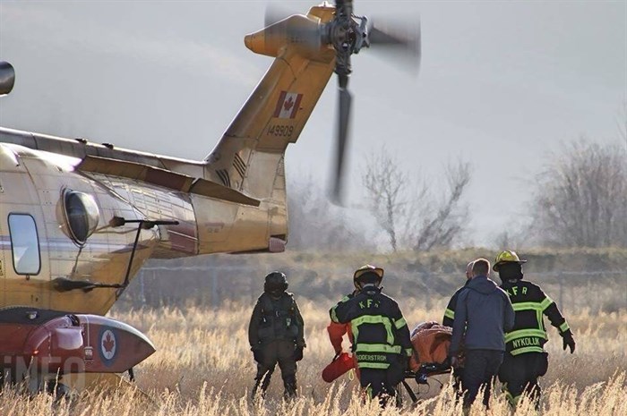
[[[368,286],[349,294],[329,314],[333,322],[350,323],[358,368],[389,369],[401,362],[407,365],[407,357],[412,354],[408,324],[399,304],[381,289]]]

